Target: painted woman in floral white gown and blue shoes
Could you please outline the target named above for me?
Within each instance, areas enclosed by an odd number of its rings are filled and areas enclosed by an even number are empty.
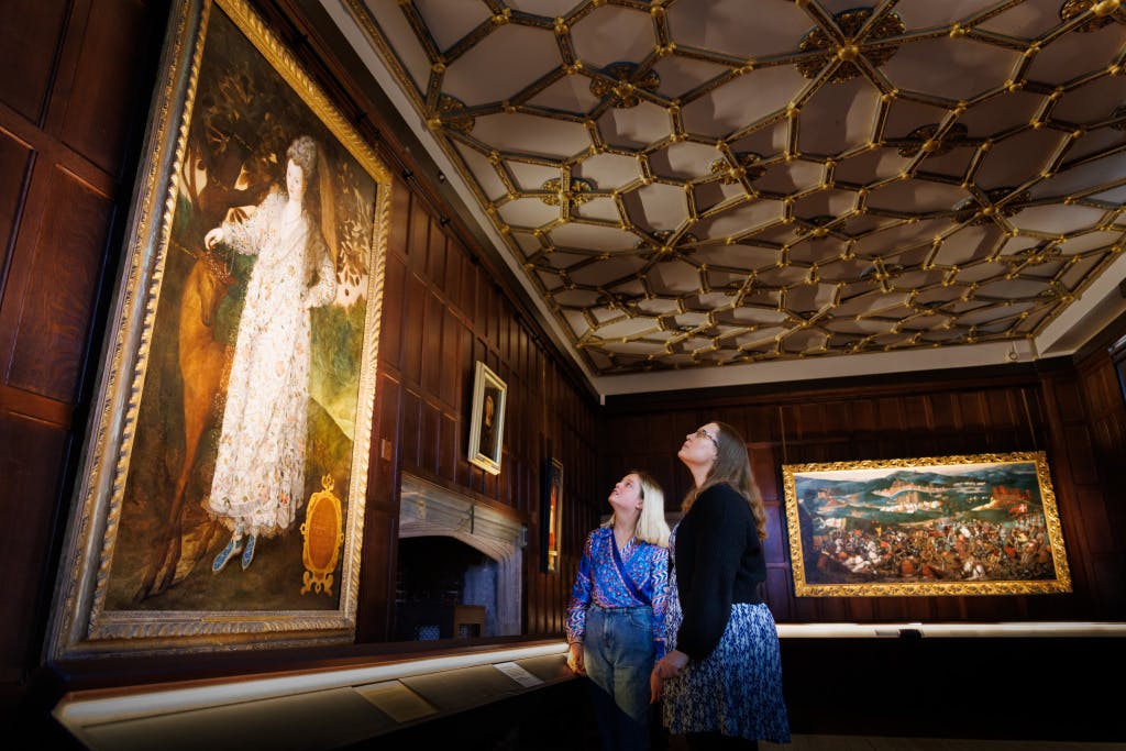
[[[239,319],[215,475],[204,501],[231,530],[212,563],[214,573],[239,553],[247,569],[258,539],[286,531],[304,501],[310,309],[332,302],[336,274],[320,224],[305,205],[316,142],[301,136],[286,157],[285,190],[275,187],[249,220],[226,221],[204,239],[208,249],[223,242],[257,256]]]

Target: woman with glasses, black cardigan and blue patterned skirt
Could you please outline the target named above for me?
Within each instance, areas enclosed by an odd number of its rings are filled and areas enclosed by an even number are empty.
[[[747,442],[713,421],[688,433],[677,456],[692,475],[669,542],[669,651],[654,665],[670,733],[688,748],[757,749],[789,742],[781,658],[766,581],[766,511]]]

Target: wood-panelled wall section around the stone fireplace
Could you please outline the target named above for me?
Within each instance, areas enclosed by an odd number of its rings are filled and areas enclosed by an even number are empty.
[[[513,309],[466,244],[425,196],[402,179],[391,233],[376,384],[376,427],[360,582],[360,641],[393,627],[393,565],[400,473],[410,472],[509,512],[528,528],[525,632],[558,634],[578,553],[597,516],[578,501],[562,521],[563,565],[540,571],[545,458],[564,466],[564,497],[592,493],[596,404]],[[467,458],[473,368],[488,365],[508,386],[501,473]]]

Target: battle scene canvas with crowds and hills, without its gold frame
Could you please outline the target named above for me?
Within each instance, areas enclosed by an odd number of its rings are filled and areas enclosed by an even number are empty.
[[[1054,499],[1046,512],[1031,461],[795,472],[793,489],[807,584],[1036,582],[1060,573]],[[1062,540],[1055,547],[1062,554]]]

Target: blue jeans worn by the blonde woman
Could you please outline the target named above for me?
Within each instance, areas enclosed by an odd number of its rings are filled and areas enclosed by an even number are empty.
[[[649,749],[653,609],[591,605],[583,652],[602,748]]]

